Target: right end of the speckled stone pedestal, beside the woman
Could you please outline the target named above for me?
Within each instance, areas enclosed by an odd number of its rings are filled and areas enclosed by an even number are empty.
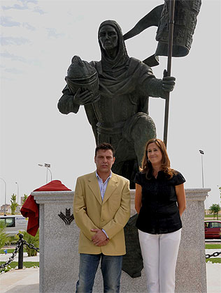
[[[211,189],[186,189],[187,208],[176,266],[175,292],[207,292],[204,200]]]

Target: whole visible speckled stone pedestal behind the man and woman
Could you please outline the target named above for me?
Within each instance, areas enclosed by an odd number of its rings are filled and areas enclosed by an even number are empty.
[[[204,248],[204,200],[210,189],[186,189],[187,209],[176,267],[176,292],[206,292]],[[131,190],[131,216],[134,215],[134,190]],[[73,293],[78,280],[79,230],[73,214],[73,191],[33,192],[40,204],[40,281],[41,293]],[[131,278],[122,271],[122,293],[146,292],[146,278]],[[98,269],[94,292],[103,292]]]

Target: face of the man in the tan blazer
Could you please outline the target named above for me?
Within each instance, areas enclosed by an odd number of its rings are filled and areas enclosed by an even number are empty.
[[[94,163],[97,166],[97,173],[110,174],[111,167],[115,161],[111,149],[99,149],[94,157]]]

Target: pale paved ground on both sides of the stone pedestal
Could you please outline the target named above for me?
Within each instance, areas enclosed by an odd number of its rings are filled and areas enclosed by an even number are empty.
[[[206,250],[206,253],[212,254],[217,250]],[[8,260],[10,254],[0,255],[0,261]],[[38,262],[39,256],[24,256],[24,262]],[[15,258],[16,260],[16,258]],[[221,292],[221,264],[206,264],[207,292]],[[39,293],[39,268],[14,269],[0,275],[0,292],[1,293]],[[59,292],[57,292],[59,293]],[[122,292],[125,293],[125,292]],[[134,292],[127,292],[134,293]],[[141,293],[141,292],[139,292]],[[193,292],[190,292],[193,293]],[[200,292],[194,292],[200,293]]]

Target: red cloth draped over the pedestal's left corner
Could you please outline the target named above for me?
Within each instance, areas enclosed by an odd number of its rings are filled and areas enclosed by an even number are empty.
[[[35,189],[34,191],[62,191],[71,190],[62,184],[62,181],[53,180],[49,183]],[[39,227],[39,204],[36,204],[33,195],[29,195],[27,200],[22,205],[20,210],[22,216],[29,218],[27,225],[27,232],[35,236]]]

